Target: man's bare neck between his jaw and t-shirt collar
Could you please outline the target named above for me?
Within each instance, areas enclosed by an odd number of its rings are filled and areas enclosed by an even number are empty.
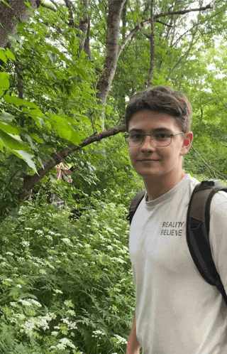
[[[148,176],[143,178],[143,182],[148,193],[148,200],[154,200],[159,198],[161,195],[170,191],[170,189],[177,186],[177,184],[182,181],[186,176],[184,170],[179,171],[178,173],[171,173],[171,176],[168,174],[166,176]]]

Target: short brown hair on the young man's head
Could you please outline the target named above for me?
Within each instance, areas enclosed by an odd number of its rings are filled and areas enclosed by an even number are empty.
[[[149,87],[136,93],[126,108],[126,129],[133,115],[143,109],[160,112],[174,117],[182,132],[189,132],[191,126],[192,106],[187,97],[167,86]]]

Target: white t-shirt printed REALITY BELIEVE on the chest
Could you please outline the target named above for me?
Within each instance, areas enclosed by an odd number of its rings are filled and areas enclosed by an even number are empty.
[[[177,186],[141,201],[131,223],[135,323],[143,354],[227,354],[227,306],[199,273],[186,237],[187,208],[199,183],[187,174]],[[211,252],[227,292],[227,193],[211,201]]]

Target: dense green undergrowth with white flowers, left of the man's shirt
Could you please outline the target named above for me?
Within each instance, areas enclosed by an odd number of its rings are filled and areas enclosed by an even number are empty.
[[[67,208],[30,200],[1,223],[1,353],[125,353],[134,311],[127,210],[97,197],[75,221]]]

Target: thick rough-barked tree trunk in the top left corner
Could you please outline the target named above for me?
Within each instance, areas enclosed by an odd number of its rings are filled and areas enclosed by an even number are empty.
[[[28,6],[24,4],[24,0],[8,0],[8,4],[11,9],[0,2],[0,47],[6,48],[9,45],[8,34],[16,32],[16,20],[13,18],[15,16],[18,21],[26,21],[31,16],[31,11],[29,12]],[[31,6],[37,9],[41,3],[41,0],[29,0]]]

